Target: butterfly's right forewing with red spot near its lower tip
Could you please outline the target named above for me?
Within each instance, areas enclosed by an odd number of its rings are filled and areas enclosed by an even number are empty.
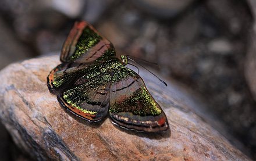
[[[152,98],[140,76],[122,67],[112,76],[109,115],[112,122],[137,131],[165,131],[165,113]]]

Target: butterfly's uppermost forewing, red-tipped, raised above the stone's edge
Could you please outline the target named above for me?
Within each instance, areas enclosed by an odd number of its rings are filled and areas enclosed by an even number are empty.
[[[86,22],[76,22],[62,47],[61,62],[101,62],[115,55],[111,42],[93,26]]]

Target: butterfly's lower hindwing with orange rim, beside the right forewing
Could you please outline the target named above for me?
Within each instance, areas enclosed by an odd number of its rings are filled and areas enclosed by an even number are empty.
[[[99,121],[108,113],[111,76],[100,77],[70,88],[58,95],[58,101],[70,112],[88,121]]]

